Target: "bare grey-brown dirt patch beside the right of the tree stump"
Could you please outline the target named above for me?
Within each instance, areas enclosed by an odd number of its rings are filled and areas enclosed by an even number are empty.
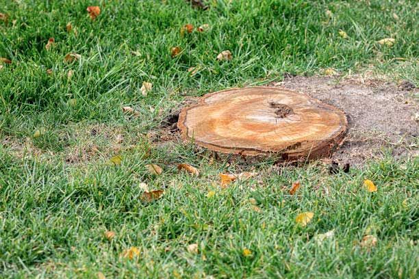
[[[386,149],[394,157],[418,154],[419,111],[411,84],[394,83],[361,77],[285,77],[270,85],[298,90],[338,107],[348,116],[349,131],[345,142],[331,160],[360,164],[383,156]]]

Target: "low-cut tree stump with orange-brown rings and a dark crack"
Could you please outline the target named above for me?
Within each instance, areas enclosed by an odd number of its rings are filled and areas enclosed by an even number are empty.
[[[335,107],[291,90],[256,87],[206,94],[182,109],[184,139],[238,155],[281,155],[285,161],[330,155],[348,122]]]

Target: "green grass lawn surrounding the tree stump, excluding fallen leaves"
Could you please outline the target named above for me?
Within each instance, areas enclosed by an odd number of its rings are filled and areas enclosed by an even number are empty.
[[[201,11],[180,0],[0,0],[9,16],[0,20],[0,57],[12,60],[0,69],[0,277],[416,278],[418,159],[386,157],[335,176],[319,162],[278,173],[268,161],[210,163],[210,153],[155,146],[146,134],[187,96],[280,81],[284,72],[372,66],[417,85],[417,1],[207,2]],[[102,12],[91,21],[86,8],[96,4]],[[186,23],[210,30],[181,36]],[[383,38],[396,42],[377,44]],[[176,46],[183,52],[172,58]],[[231,62],[218,62],[227,49]],[[69,52],[81,59],[64,62]],[[143,81],[153,83],[147,97]],[[114,155],[121,165],[108,163]],[[150,176],[148,163],[162,175]],[[179,174],[177,163],[201,176]],[[259,176],[217,186],[220,172],[250,169]],[[377,193],[365,191],[364,178]],[[288,196],[296,180],[303,186]],[[164,196],[142,201],[141,182]],[[295,218],[304,211],[314,218],[302,228]],[[329,230],[334,237],[318,243]],[[377,245],[362,248],[364,235]],[[132,246],[140,256],[120,258]]]

